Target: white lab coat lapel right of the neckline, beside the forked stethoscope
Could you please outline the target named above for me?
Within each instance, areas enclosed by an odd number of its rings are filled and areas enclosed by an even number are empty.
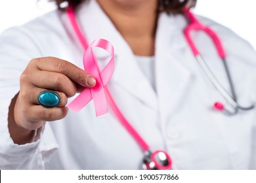
[[[181,30],[186,25],[184,18],[181,15],[161,14],[158,24],[156,84],[161,119],[167,122],[179,104],[184,103],[182,99],[188,89],[191,73],[182,63],[187,55],[184,53],[187,44]]]

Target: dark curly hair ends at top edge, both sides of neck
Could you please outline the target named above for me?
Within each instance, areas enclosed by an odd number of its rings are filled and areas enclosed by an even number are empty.
[[[61,7],[60,5],[64,2],[67,2],[72,7],[77,7],[83,1],[88,0],[50,0],[54,1],[60,10],[65,10],[65,8]],[[169,13],[179,13],[182,12],[182,8],[186,5],[188,7],[194,7],[196,5],[196,0],[158,0],[158,10],[165,11]]]

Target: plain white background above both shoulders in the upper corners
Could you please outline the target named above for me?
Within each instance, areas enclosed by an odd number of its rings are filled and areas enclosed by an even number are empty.
[[[48,0],[0,0],[0,33],[54,8]],[[194,12],[226,25],[256,48],[255,0],[198,0]]]

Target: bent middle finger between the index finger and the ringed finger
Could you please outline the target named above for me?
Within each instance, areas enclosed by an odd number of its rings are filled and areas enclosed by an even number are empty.
[[[76,84],[61,73],[39,71],[35,75],[30,76],[30,82],[38,88],[64,92],[68,97],[74,96],[77,92]]]

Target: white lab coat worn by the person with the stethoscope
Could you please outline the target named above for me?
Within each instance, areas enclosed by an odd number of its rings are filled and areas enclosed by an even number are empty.
[[[231,117],[213,110],[215,101],[226,101],[192,55],[182,33],[186,26],[182,15],[160,14],[156,92],[96,1],[83,3],[77,18],[88,42],[102,38],[114,45],[116,67],[108,84],[110,91],[151,150],[169,152],[173,169],[256,169],[256,110]],[[206,18],[200,20],[223,41],[238,101],[243,105],[256,101],[253,48],[226,27]],[[229,91],[213,44],[204,33],[192,35],[209,67]],[[66,118],[48,122],[44,130],[37,131],[35,142],[12,142],[8,107],[18,93],[19,76],[28,62],[54,56],[83,68],[83,52],[66,14],[58,11],[0,36],[0,169],[139,169],[143,154],[137,142],[111,110],[96,118],[92,102],[77,114],[70,111]]]

